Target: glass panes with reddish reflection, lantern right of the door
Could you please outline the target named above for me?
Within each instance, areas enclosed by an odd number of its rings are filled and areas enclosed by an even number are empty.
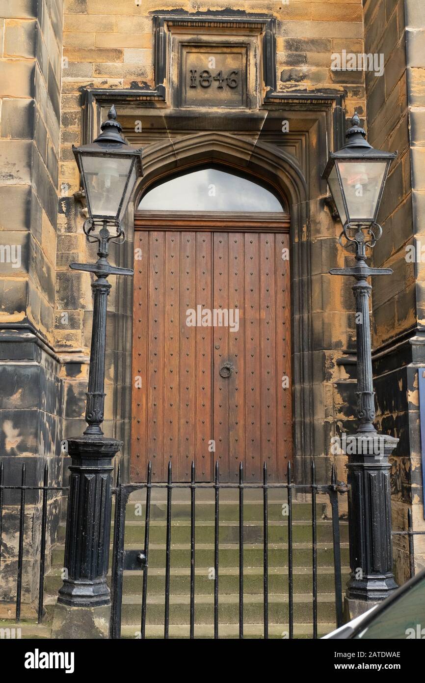
[[[374,221],[387,161],[337,161],[349,220]]]

